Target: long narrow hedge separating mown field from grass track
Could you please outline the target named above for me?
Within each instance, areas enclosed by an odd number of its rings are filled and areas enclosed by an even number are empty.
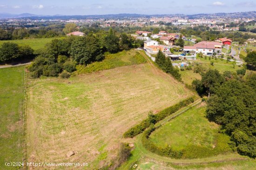
[[[142,133],[143,131],[145,131],[145,129],[147,129],[150,124],[155,124],[157,122],[159,122],[160,120],[168,117],[169,115],[175,113],[176,111],[178,111],[179,109],[181,109],[182,107],[185,107],[187,105],[189,105],[190,103],[193,103],[194,99],[191,98],[187,98],[185,100],[182,100],[181,102],[179,102],[176,105],[170,106],[166,109],[164,109],[163,111],[160,111],[159,113],[155,114],[155,115],[149,115],[149,117],[143,121],[141,121],[140,124],[135,125],[134,127],[130,128],[128,131],[126,131],[123,136],[124,137],[135,137],[136,135]]]

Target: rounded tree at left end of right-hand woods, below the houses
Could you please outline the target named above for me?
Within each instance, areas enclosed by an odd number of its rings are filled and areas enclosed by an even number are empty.
[[[202,74],[202,84],[207,89],[208,97],[211,93],[215,93],[216,88],[224,82],[224,78],[218,70],[209,69],[208,72]]]

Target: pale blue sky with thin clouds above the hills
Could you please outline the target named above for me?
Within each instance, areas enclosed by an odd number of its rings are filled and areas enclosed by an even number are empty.
[[[94,15],[256,11],[256,0],[0,0],[0,13]]]

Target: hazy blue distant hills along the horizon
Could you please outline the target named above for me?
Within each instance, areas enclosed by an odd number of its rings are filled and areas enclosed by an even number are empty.
[[[146,14],[136,14],[136,13],[119,13],[119,14],[106,14],[106,15],[34,15],[31,13],[21,13],[21,14],[12,14],[12,13],[0,13],[0,19],[8,18],[30,18],[30,19],[89,19],[89,18],[138,18],[138,17],[182,17],[189,19],[200,19],[200,18],[256,18],[256,11],[250,12],[237,12],[237,13],[200,13],[193,15],[185,14],[156,14],[156,15],[146,15]]]

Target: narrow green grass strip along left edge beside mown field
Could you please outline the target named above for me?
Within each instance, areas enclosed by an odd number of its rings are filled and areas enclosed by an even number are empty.
[[[23,158],[24,67],[0,69],[0,169]]]

